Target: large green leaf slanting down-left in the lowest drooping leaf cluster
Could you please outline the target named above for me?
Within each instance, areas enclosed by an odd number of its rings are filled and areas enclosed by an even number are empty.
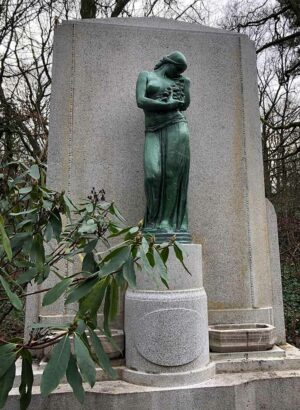
[[[69,336],[64,336],[53,348],[41,381],[41,395],[48,396],[64,377],[71,352]]]

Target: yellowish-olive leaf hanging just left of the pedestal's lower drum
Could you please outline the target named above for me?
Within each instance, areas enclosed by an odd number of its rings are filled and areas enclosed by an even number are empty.
[[[95,325],[97,323],[97,312],[102,304],[106,286],[106,279],[98,280],[96,285],[93,286],[92,290],[79,301],[80,316],[84,317],[89,314],[91,320]]]

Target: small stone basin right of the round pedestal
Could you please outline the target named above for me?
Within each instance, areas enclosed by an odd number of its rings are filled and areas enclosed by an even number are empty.
[[[209,326],[212,352],[251,352],[269,350],[275,344],[275,327],[262,323],[221,324]]]

